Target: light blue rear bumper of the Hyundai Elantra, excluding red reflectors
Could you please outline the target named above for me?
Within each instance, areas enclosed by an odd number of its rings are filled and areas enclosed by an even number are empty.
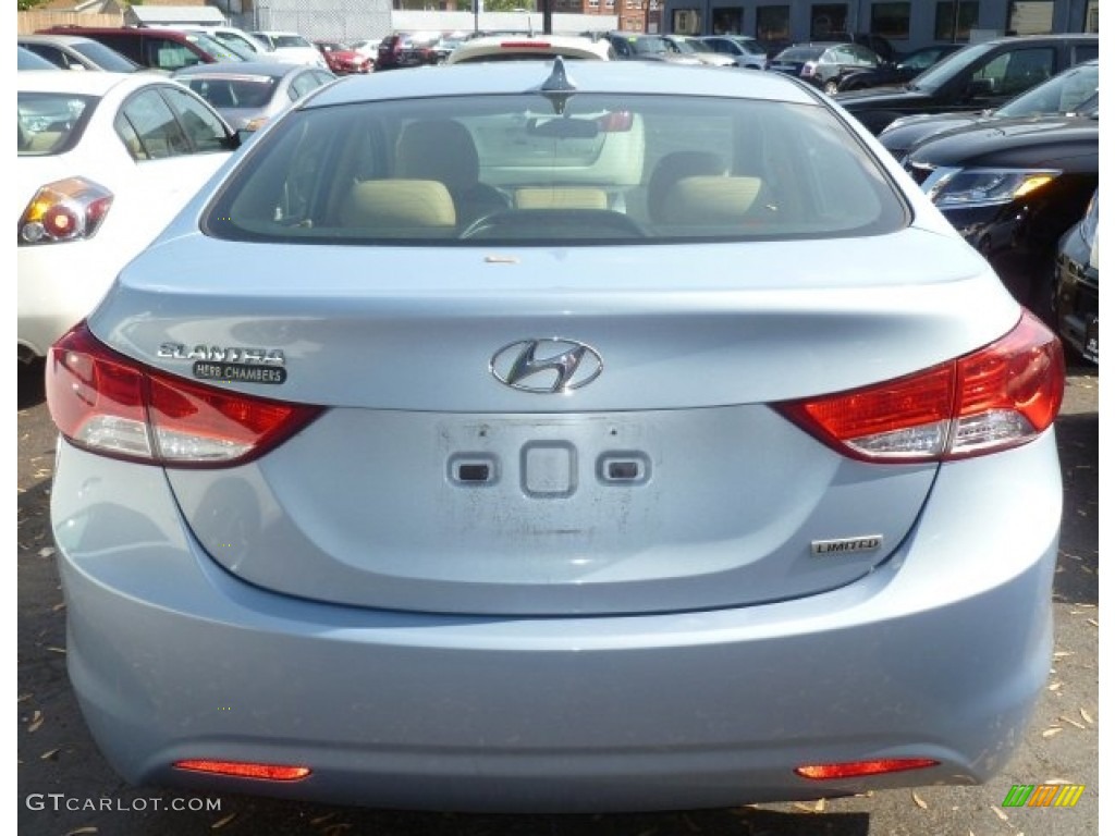
[[[1051,432],[947,465],[911,539],[822,595],[627,618],[467,618],[275,595],[216,566],[162,472],[60,445],[70,678],[129,781],[404,808],[634,810],[1000,770],[1046,681]],[[802,764],[941,766],[815,782]],[[301,764],[293,784],[182,758]]]

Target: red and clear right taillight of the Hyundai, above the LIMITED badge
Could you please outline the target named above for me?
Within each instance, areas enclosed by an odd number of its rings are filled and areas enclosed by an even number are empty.
[[[1026,444],[1053,424],[1064,389],[1060,341],[1024,312],[1010,333],[975,353],[898,380],[778,408],[854,458],[927,461]]]

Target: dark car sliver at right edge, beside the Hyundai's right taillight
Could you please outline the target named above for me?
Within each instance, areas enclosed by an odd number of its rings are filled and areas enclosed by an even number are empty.
[[[1054,315],[1060,339],[1085,360],[1099,363],[1099,191],[1084,217],[1057,246]]]

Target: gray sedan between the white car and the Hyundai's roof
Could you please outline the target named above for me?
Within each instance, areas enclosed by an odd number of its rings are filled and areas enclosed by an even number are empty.
[[[292,101],[337,77],[304,64],[249,61],[187,67],[174,79],[215,107],[234,130],[258,130]]]

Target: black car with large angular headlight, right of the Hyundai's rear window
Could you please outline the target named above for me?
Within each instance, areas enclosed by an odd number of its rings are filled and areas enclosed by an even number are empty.
[[[1098,110],[939,134],[910,149],[905,168],[1011,294],[1051,321],[1057,242],[1098,186]]]

